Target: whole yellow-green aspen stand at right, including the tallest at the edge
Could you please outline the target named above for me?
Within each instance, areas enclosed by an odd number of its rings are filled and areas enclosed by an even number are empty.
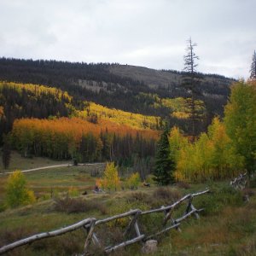
[[[176,180],[234,177],[256,170],[256,84],[239,82],[231,89],[224,120],[212,119],[207,132],[191,142],[177,127],[170,132],[170,159]],[[170,172],[170,171],[169,171]]]

